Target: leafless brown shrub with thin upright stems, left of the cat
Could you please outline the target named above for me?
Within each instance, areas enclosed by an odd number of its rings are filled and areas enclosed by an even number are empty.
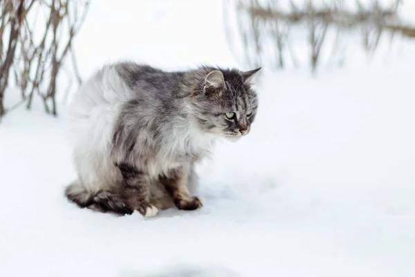
[[[24,102],[29,109],[35,94],[42,98],[47,113],[57,114],[57,78],[69,53],[72,55],[72,73],[78,84],[82,81],[72,42],[86,17],[89,2],[0,1],[0,116]],[[3,47],[5,39],[8,44]],[[21,101],[6,109],[3,98],[13,72],[20,87]]]

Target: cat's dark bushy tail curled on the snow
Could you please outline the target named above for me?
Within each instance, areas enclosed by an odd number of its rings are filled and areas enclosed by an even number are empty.
[[[81,208],[98,209],[104,213],[113,212],[120,215],[131,215],[133,211],[120,195],[116,195],[109,190],[100,190],[98,193],[92,193],[79,181],[74,181],[66,187],[65,195],[71,202],[74,202]]]

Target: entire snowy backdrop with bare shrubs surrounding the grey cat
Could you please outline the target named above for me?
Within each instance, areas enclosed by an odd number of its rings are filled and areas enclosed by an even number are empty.
[[[414,39],[415,0],[0,0],[0,276],[415,276]],[[200,211],[64,199],[66,105],[120,60],[263,67]]]

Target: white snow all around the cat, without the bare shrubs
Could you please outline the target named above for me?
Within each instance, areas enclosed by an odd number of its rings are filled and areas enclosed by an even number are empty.
[[[91,6],[82,75],[124,58],[238,65],[221,1],[129,4]],[[63,195],[64,107],[13,111],[0,124],[0,276],[415,276],[415,44],[399,45],[316,78],[265,69],[252,132],[198,169],[199,211],[77,208]]]

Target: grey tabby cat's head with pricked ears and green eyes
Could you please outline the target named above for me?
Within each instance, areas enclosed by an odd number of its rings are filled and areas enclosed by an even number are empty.
[[[231,140],[246,136],[257,114],[257,93],[250,87],[250,82],[259,69],[205,68],[203,80],[199,80],[191,96],[198,127]]]

